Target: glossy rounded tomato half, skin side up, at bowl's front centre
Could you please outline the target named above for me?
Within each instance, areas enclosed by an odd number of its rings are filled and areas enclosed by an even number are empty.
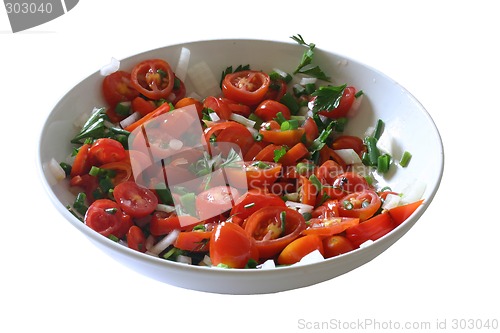
[[[259,259],[254,240],[242,227],[231,222],[222,222],[212,232],[209,252],[214,266],[245,268],[250,259]]]

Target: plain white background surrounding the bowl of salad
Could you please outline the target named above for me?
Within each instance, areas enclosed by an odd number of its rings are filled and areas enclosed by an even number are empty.
[[[451,332],[453,319],[500,320],[497,16],[494,1],[480,0],[81,0],[13,34],[1,8],[0,331],[300,332],[306,323],[369,319],[433,329],[446,321],[442,331]],[[37,170],[40,130],[57,101],[110,57],[202,39],[289,41],[297,33],[394,78],[442,135],[441,187],[382,255],[294,291],[194,292],[103,255],[52,206]]]

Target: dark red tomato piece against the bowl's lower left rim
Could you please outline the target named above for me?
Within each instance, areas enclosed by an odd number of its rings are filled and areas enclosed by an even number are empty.
[[[120,206],[109,199],[94,201],[84,217],[85,224],[105,237],[122,238],[132,226],[132,219]]]

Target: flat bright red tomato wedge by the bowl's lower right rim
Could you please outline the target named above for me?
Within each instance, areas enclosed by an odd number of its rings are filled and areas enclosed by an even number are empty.
[[[396,227],[388,213],[375,215],[374,217],[346,229],[346,237],[354,247],[359,247],[367,240],[377,240],[386,235]]]

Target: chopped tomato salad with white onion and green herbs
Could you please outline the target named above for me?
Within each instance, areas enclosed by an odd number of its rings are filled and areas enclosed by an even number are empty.
[[[175,70],[165,59],[103,69],[106,105],[57,164],[76,195],[68,209],[134,250],[225,268],[335,257],[403,223],[423,199],[402,200],[375,175],[411,154],[395,161],[377,145],[383,119],[344,134],[363,91],[331,84],[315,44],[292,39],[304,47],[292,72],[230,65],[219,80],[186,58]]]

